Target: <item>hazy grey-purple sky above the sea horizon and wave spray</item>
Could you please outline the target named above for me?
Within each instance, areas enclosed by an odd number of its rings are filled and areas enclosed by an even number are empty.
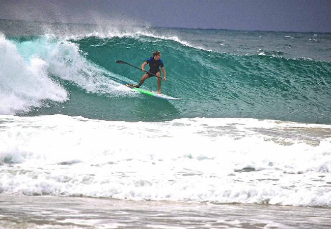
[[[0,0],[0,19],[331,32],[331,0]]]

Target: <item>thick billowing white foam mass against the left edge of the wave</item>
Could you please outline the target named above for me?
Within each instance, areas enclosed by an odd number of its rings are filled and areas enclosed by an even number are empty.
[[[67,100],[66,90],[49,78],[48,63],[38,56],[24,59],[4,35],[0,35],[0,59],[0,114],[27,111],[43,100]]]

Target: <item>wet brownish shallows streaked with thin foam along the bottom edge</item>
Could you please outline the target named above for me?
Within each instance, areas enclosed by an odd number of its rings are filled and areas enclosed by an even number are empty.
[[[2,228],[330,228],[331,209],[0,195]]]

